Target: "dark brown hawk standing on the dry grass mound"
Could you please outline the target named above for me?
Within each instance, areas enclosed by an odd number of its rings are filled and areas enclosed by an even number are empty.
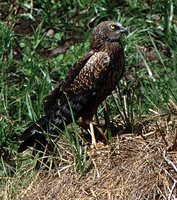
[[[124,50],[120,35],[126,32],[120,23],[103,21],[93,30],[90,49],[69,70],[65,79],[44,99],[44,115],[19,136],[19,152],[28,146],[43,149],[46,133],[82,118],[89,124],[92,144],[96,145],[92,118],[98,106],[111,94],[124,73]]]

